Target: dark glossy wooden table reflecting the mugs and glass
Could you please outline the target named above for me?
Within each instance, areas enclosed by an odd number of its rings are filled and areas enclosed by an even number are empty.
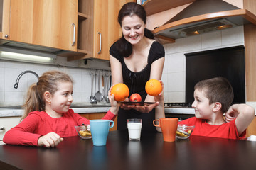
[[[163,142],[161,133],[142,132],[141,141],[127,131],[110,132],[107,145],[66,137],[55,148],[0,145],[0,169],[256,169],[256,142],[191,137]]]

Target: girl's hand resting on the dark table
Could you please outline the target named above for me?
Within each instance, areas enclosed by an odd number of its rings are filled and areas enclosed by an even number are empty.
[[[48,134],[38,138],[38,147],[56,147],[63,138],[55,132],[49,132]]]

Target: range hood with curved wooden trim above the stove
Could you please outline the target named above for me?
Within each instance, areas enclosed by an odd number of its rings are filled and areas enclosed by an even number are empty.
[[[256,24],[256,16],[246,9],[222,0],[196,0],[153,33],[176,39],[247,23]]]

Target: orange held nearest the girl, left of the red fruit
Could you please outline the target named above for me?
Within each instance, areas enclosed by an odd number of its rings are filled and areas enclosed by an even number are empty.
[[[110,94],[114,94],[115,101],[124,101],[129,96],[129,88],[122,83],[114,84]]]

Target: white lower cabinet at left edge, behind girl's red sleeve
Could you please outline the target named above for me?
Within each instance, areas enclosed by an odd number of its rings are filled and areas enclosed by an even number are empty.
[[[0,118],[0,145],[4,144],[3,138],[4,134],[10,130],[11,128],[14,128],[14,126],[18,125],[20,122],[21,117],[3,117]]]

